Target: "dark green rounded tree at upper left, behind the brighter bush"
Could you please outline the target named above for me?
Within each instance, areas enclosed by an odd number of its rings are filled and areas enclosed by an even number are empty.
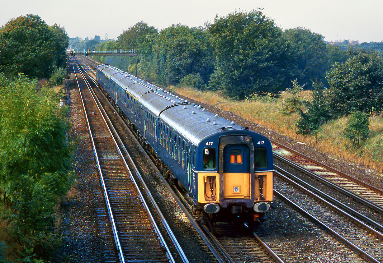
[[[56,40],[39,16],[11,19],[0,29],[0,72],[48,78],[56,64]]]

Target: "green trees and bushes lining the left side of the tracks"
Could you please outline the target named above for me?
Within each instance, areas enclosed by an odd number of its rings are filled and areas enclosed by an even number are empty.
[[[37,15],[0,28],[0,262],[47,262],[59,200],[74,182],[68,109],[51,84],[66,75],[68,36]],[[47,83],[47,84],[42,84]]]

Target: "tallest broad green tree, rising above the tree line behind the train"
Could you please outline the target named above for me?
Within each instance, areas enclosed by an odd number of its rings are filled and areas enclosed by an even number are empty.
[[[209,89],[243,99],[286,88],[287,53],[282,30],[261,11],[236,11],[208,24],[216,55]]]

